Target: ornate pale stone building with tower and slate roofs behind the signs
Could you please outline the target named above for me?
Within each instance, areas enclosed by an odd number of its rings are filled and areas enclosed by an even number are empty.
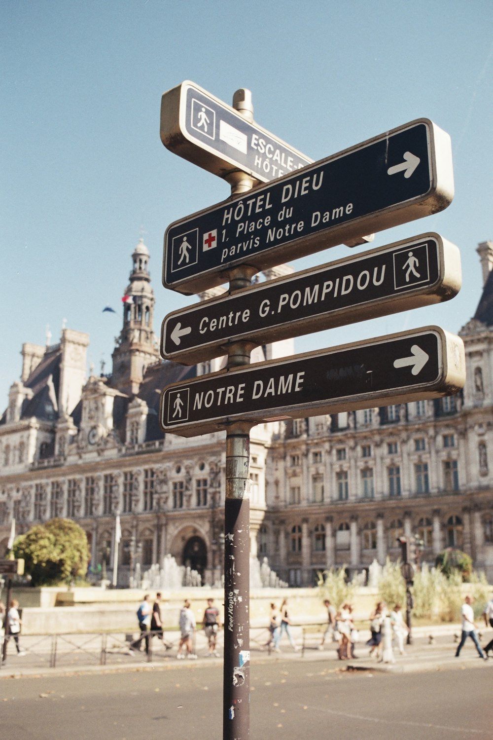
[[[483,293],[460,330],[461,394],[252,429],[251,551],[291,585],[313,583],[330,565],[361,571],[397,559],[401,534],[417,534],[430,563],[456,545],[493,579],[493,243],[477,252]],[[12,518],[19,533],[67,516],[84,527],[92,565],[111,571],[120,511],[122,585],[137,562],[145,569],[168,553],[214,582],[224,434],[163,437],[158,406],[168,383],[222,360],[196,368],[160,360],[142,242],[132,260],[109,376],[86,379],[89,337],[80,332],[63,329],[55,346],[22,348],[21,380],[0,421],[0,551]],[[255,359],[291,351],[279,343]]]

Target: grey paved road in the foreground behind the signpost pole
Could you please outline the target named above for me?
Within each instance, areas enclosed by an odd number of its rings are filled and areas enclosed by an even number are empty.
[[[339,665],[288,655],[254,661],[251,738],[493,737],[492,660],[469,652],[452,664],[458,670],[412,673],[346,672]],[[183,661],[150,670],[4,679],[0,707],[6,739],[217,740],[222,665]]]

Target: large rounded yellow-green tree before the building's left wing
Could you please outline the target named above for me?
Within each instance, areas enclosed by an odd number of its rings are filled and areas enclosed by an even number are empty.
[[[25,573],[33,586],[69,583],[85,576],[89,546],[84,529],[72,519],[50,519],[21,534],[13,545],[16,558],[24,558]]]

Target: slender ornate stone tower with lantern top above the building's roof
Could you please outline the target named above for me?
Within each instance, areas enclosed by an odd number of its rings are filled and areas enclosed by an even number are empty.
[[[140,238],[132,254],[133,269],[123,295],[123,328],[112,354],[111,385],[135,395],[146,368],[160,360],[152,330],[154,291],[149,275],[149,250]]]

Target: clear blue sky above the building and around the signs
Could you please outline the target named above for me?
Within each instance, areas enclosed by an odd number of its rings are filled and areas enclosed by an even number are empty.
[[[10,0],[0,35],[2,409],[21,344],[44,344],[47,324],[52,343],[64,318],[88,332],[89,361],[110,369],[140,229],[156,333],[193,302],[160,282],[163,234],[230,190],[160,142],[161,95],[185,79],[228,103],[248,87],[256,121],[313,159],[422,116],[452,137],[452,205],[373,246],[440,232],[461,250],[458,297],[296,340],[296,351],[429,323],[458,332],[474,314],[475,249],[493,239],[491,0]]]

